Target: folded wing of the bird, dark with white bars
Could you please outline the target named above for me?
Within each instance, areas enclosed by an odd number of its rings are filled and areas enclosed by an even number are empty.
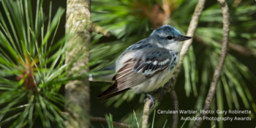
[[[124,66],[118,69],[113,77],[116,82],[97,98],[105,97],[124,89],[127,90],[143,83],[172,65],[171,63],[176,61],[176,56],[175,52],[165,48],[139,50],[136,56],[127,59],[123,64]]]

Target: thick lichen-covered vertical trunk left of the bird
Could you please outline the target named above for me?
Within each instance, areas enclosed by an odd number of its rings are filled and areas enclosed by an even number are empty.
[[[86,30],[86,21],[91,20],[90,0],[67,0],[66,33],[69,48],[66,53],[66,64],[72,64],[67,75],[72,77],[80,73],[88,72],[84,69],[89,62],[88,45],[90,43],[90,31]],[[78,59],[83,52],[84,55]],[[76,72],[76,74],[74,73]],[[79,74],[78,74],[79,73]],[[69,120],[66,127],[90,127],[90,86],[87,79],[70,80],[65,85],[65,109]]]

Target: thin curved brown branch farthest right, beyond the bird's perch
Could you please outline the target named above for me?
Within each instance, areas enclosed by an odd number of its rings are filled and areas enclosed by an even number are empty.
[[[228,12],[227,3],[225,0],[217,0],[219,4],[222,6],[222,15],[223,15],[223,43],[222,43],[222,53],[219,57],[219,64],[214,72],[214,78],[211,81],[211,86],[208,91],[206,102],[203,107],[203,110],[209,110],[211,107],[211,102],[214,99],[214,94],[217,88],[217,84],[219,82],[219,76],[222,72],[222,67],[225,63],[225,58],[227,55],[227,44],[228,44],[228,38],[229,38],[229,32],[230,32],[230,14]],[[207,113],[200,113],[200,117],[203,118],[203,116],[207,116]],[[200,127],[203,120],[197,120],[195,121],[194,128]]]

